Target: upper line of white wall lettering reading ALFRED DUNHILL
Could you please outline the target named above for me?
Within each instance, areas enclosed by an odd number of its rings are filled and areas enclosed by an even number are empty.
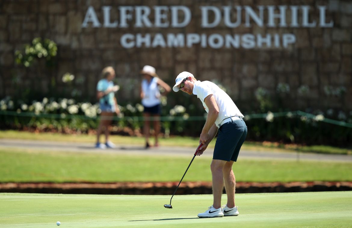
[[[266,24],[268,27],[332,27],[334,22],[326,22],[326,6],[317,6],[319,9],[319,23],[315,20],[309,21],[310,6],[257,6],[256,9],[251,6],[200,6],[201,27],[214,28],[223,20],[226,27],[236,28],[240,26],[244,18],[245,27],[251,27],[254,22],[259,27]],[[186,27],[192,18],[192,13],[187,6],[154,6],[152,16],[149,6],[119,6],[119,15],[111,15],[111,6],[102,6],[103,27],[108,28],[127,28],[132,26],[131,21],[135,21],[134,27]],[[243,10],[244,9],[244,10]],[[278,13],[276,11],[279,11]],[[291,23],[287,24],[287,11],[291,14]],[[223,13],[223,14],[222,14]],[[171,14],[171,15],[169,15]],[[180,21],[180,15],[183,14],[183,21]],[[212,15],[210,15],[212,14]],[[235,15],[233,15],[235,14]],[[222,15],[223,18],[222,18]],[[119,21],[118,22],[118,16]],[[214,16],[214,17],[213,17]],[[266,16],[266,17],[264,17]],[[298,17],[302,20],[299,20]],[[151,18],[154,20],[151,21]],[[211,19],[210,19],[211,18]],[[236,18],[235,21],[232,21]],[[170,21],[168,20],[171,20]],[[181,19],[182,20],[182,19]],[[113,22],[112,22],[113,21]],[[301,21],[301,23],[300,23]],[[92,6],[89,6],[84,17],[82,27],[86,28],[92,23],[92,27],[101,27],[97,14]]]

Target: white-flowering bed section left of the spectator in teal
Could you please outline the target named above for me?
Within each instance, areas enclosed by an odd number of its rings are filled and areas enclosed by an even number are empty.
[[[74,99],[55,100],[46,97],[42,101],[33,100],[26,104],[22,100],[15,102],[10,97],[5,97],[0,100],[0,111],[17,113],[11,118],[6,117],[4,125],[10,128],[16,125],[16,128],[55,129],[59,132],[70,129],[87,132],[89,129],[95,129],[98,124],[95,118],[99,113],[99,105],[88,102],[76,103]],[[1,117],[0,114],[0,119]]]

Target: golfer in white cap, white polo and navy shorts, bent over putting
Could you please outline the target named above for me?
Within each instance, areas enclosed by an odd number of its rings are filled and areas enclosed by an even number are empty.
[[[212,171],[213,205],[198,217],[223,217],[239,215],[235,206],[235,175],[232,165],[237,161],[240,148],[247,136],[247,126],[243,115],[233,103],[232,99],[212,82],[196,80],[193,74],[182,72],[176,77],[176,84],[172,88],[175,92],[182,90],[189,95],[196,95],[207,111],[207,120],[203,126],[199,142],[203,143],[198,156],[207,149],[210,141],[219,130],[216,139],[213,160],[210,165]],[[221,207],[221,194],[224,188],[227,194],[227,204]]]

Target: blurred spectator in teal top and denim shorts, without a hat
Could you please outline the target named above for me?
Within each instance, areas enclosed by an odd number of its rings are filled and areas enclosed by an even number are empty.
[[[109,141],[109,126],[114,113],[120,113],[114,94],[119,90],[119,86],[114,85],[112,82],[112,79],[115,78],[115,71],[111,66],[105,67],[101,73],[103,79],[96,86],[96,97],[99,99],[101,113],[95,147],[100,149],[115,148],[115,144]],[[105,144],[100,143],[100,134],[103,130],[105,133]]]

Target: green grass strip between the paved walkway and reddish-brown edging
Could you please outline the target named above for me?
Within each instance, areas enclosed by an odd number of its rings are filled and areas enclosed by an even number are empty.
[[[191,157],[0,149],[0,182],[178,182]],[[184,181],[210,182],[211,159],[196,157]],[[241,182],[352,181],[343,162],[239,158],[233,170]]]

